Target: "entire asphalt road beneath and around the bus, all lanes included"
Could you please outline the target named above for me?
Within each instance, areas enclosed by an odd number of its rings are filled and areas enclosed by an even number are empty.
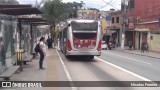
[[[62,81],[160,81],[160,60],[119,51],[102,51],[94,60],[82,57],[66,59],[57,51],[58,77]],[[90,82],[92,83],[92,82]],[[122,82],[123,83],[123,82]],[[82,87],[67,90],[159,90],[159,87]],[[113,83],[113,84],[116,84]],[[65,88],[62,88],[66,90]]]

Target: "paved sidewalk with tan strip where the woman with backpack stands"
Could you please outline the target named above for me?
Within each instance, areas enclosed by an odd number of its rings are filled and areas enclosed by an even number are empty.
[[[56,49],[47,50],[47,55],[44,59],[44,70],[39,69],[39,56],[34,58],[31,62],[24,65],[22,72],[13,74],[10,81],[57,81],[56,60],[59,59],[56,54]],[[3,81],[0,79],[0,81]],[[58,90],[56,87],[45,88],[1,88],[2,90]]]

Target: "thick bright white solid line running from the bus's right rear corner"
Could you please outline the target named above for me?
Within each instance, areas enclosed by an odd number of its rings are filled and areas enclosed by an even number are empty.
[[[119,66],[117,66],[117,65],[115,65],[115,64],[112,64],[112,63],[110,63],[110,62],[107,62],[107,61],[105,61],[105,60],[103,60],[103,59],[101,59],[101,58],[95,57],[95,59],[98,59],[99,61],[104,62],[104,63],[106,63],[106,64],[109,64],[109,65],[111,65],[111,66],[113,66],[113,67],[115,67],[115,68],[118,68],[118,69],[120,69],[120,70],[122,70],[122,71],[124,71],[124,72],[127,72],[127,73],[129,73],[129,74],[131,74],[131,75],[133,75],[133,76],[135,76],[135,77],[137,77],[137,78],[140,78],[140,79],[144,80],[144,81],[151,81],[151,80],[149,80],[149,79],[147,79],[147,78],[145,78],[145,77],[143,77],[143,76],[140,76],[140,75],[138,75],[138,74],[136,74],[136,73],[133,73],[133,72],[131,72],[131,71],[128,71],[128,70],[126,70],[126,69],[124,69],[124,68],[122,68],[122,67],[119,67]]]

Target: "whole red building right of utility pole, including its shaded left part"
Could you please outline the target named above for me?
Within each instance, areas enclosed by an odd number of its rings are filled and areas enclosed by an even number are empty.
[[[127,2],[122,0],[121,2],[126,45],[128,41],[133,41],[134,49],[141,49],[141,44],[145,43],[149,45],[149,50],[160,52],[160,0],[127,0]]]

